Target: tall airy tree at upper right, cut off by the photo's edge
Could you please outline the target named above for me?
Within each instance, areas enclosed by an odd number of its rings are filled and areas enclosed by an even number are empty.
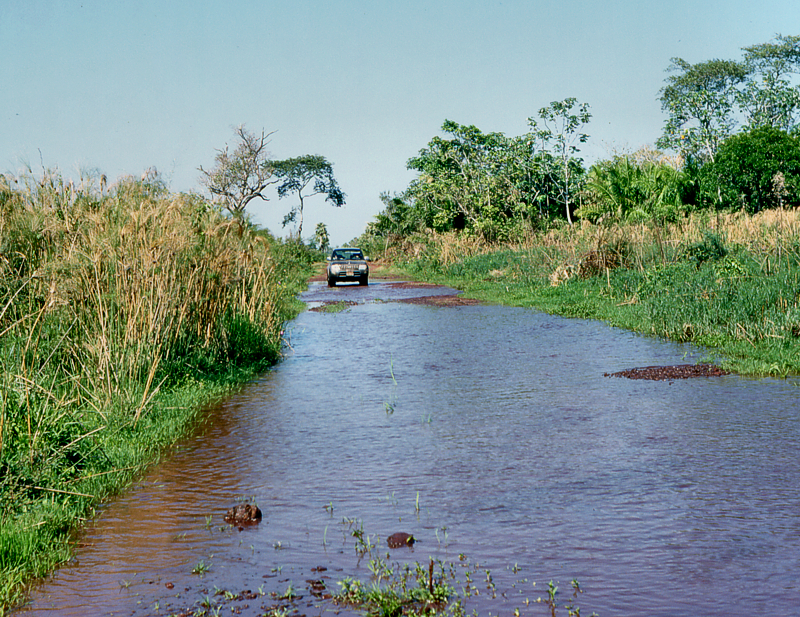
[[[800,110],[800,89],[792,83],[792,76],[800,73],[800,36],[778,35],[775,41],[745,47],[744,52],[749,77],[739,104],[748,128],[791,131]]]

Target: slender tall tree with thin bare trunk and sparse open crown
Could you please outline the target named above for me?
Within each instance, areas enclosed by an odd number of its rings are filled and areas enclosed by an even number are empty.
[[[573,113],[573,108],[577,105],[577,110]],[[582,161],[575,155],[580,151],[578,143],[586,143],[589,136],[581,132],[580,129],[588,124],[592,114],[589,112],[589,105],[581,103],[574,97],[569,97],[563,101],[553,101],[549,107],[542,107],[539,110],[539,119],[543,126],[534,118],[528,118],[528,125],[531,133],[541,141],[543,150],[550,150],[561,166],[564,211],[567,221],[572,225],[572,214],[570,213],[570,184],[576,175],[582,172]]]

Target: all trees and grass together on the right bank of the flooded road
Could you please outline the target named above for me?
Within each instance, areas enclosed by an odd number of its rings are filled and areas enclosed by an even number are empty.
[[[490,302],[708,348],[752,375],[800,374],[800,37],[740,61],[673,58],[657,141],[588,169],[574,98],[520,136],[447,120],[354,240]]]

